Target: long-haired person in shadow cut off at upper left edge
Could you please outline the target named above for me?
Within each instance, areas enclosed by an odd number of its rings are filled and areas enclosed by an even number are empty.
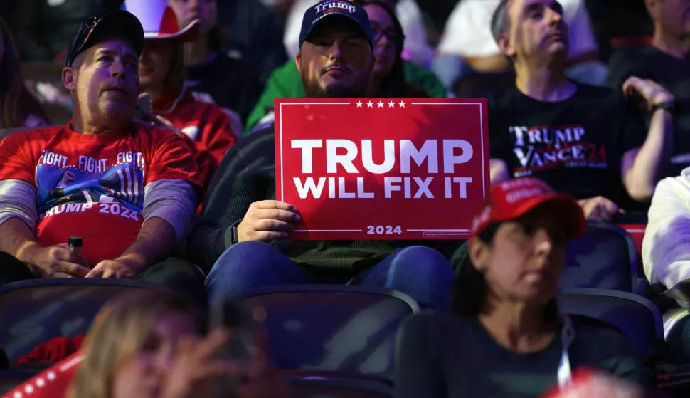
[[[41,104],[24,85],[14,38],[1,17],[0,111],[0,129],[48,125],[48,117],[43,112]]]

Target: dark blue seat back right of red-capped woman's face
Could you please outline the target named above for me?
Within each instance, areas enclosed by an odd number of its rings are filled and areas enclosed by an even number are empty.
[[[620,226],[590,222],[585,234],[568,242],[561,288],[598,288],[642,293],[635,241]]]

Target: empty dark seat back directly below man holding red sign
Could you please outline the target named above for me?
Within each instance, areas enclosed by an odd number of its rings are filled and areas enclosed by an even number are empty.
[[[398,326],[419,311],[408,295],[363,286],[272,286],[237,299],[253,318],[264,320],[269,352],[281,370],[388,380]]]

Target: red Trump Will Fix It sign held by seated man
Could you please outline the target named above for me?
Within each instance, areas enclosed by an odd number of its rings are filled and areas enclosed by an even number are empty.
[[[466,239],[489,189],[486,100],[277,99],[290,239]]]

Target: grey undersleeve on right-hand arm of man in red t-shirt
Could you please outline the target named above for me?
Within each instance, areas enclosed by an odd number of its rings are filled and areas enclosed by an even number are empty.
[[[144,223],[153,217],[168,221],[178,242],[186,237],[194,209],[196,192],[189,182],[161,179],[144,187]]]

